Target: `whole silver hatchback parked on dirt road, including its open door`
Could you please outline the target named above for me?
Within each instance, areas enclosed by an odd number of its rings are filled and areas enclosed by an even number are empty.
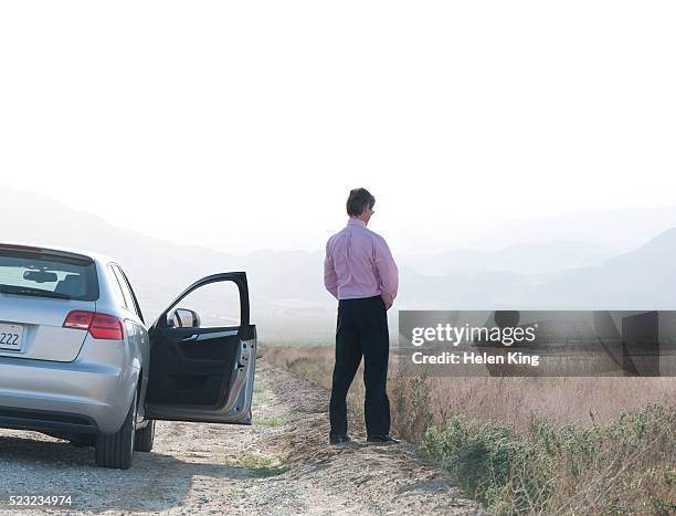
[[[240,326],[200,327],[179,307],[233,282]],[[106,256],[0,244],[0,428],[94,445],[126,470],[152,449],[156,420],[251,424],[256,328],[243,272],[199,280],[147,326],[122,266]]]

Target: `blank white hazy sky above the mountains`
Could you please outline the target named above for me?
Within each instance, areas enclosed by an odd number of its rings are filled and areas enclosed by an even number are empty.
[[[673,2],[3,2],[0,183],[231,251],[676,203]],[[27,208],[27,213],[29,210]]]

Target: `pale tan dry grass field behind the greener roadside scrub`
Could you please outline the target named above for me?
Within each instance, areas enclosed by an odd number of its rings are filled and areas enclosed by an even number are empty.
[[[334,348],[270,347],[273,364],[330,389]],[[398,381],[397,357],[390,359],[390,393]],[[362,368],[349,399],[355,409],[363,402]],[[608,423],[622,411],[646,404],[676,407],[676,378],[429,378],[431,403],[443,412],[463,413],[483,422],[525,428],[531,414],[552,424]],[[440,422],[435,419],[434,422]]]

